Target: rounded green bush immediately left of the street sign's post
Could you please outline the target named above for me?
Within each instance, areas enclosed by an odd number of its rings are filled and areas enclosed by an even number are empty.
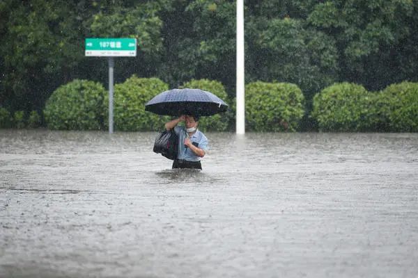
[[[103,97],[100,83],[74,80],[56,89],[44,109],[49,129],[94,130],[102,128]]]

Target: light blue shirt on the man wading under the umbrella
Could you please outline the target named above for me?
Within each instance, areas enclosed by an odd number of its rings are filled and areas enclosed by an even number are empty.
[[[184,142],[185,138],[187,138],[187,133],[185,126],[175,126],[174,132],[178,135],[178,159],[185,159],[186,161],[200,161],[201,157],[196,156],[194,152],[189,148],[186,147]],[[199,149],[203,149],[205,152],[208,150],[208,138],[196,129],[196,132],[193,133],[192,137],[189,138],[191,142],[196,142]]]

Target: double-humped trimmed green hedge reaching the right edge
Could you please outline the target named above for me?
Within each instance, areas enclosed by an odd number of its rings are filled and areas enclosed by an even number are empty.
[[[362,85],[336,83],[314,97],[311,117],[321,131],[418,131],[418,83],[368,92]]]

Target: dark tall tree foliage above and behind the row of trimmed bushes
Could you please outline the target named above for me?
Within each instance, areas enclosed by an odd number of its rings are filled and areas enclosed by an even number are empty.
[[[418,2],[245,1],[246,80],[294,83],[307,108],[334,82],[367,90],[418,81]],[[0,1],[0,105],[41,111],[74,79],[107,83],[107,60],[84,57],[84,39],[137,38],[116,59],[115,79],[135,74],[178,87],[216,80],[235,92],[235,1]]]

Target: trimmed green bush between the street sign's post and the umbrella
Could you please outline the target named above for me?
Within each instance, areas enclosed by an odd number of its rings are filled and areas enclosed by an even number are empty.
[[[160,131],[167,116],[145,111],[145,104],[169,89],[169,85],[156,78],[131,76],[124,83],[115,85],[114,92],[114,128],[119,131]],[[108,126],[109,97],[104,98],[104,124]]]

